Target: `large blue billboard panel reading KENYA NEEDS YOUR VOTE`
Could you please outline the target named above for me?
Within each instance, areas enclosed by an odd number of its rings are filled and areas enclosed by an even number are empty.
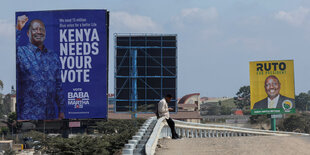
[[[107,118],[108,12],[16,12],[18,120]]]

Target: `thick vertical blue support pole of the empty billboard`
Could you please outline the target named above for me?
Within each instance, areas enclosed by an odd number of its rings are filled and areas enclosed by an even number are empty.
[[[137,49],[130,50],[130,55],[131,55],[131,70],[130,70],[130,75],[131,75],[131,101],[132,101],[132,114],[131,118],[137,118],[137,99],[138,99],[138,94],[137,94]]]

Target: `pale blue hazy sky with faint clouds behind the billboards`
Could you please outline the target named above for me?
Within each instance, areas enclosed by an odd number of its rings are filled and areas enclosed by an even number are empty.
[[[296,94],[310,90],[308,0],[2,0],[2,93],[16,86],[15,12],[63,9],[110,11],[109,93],[114,33],[177,34],[179,97],[233,97],[250,84],[249,61],[263,60],[294,60]]]

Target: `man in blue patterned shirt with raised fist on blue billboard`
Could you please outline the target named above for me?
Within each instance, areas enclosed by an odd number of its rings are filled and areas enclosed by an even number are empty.
[[[18,16],[16,23],[17,118],[53,120],[64,118],[64,96],[57,54],[44,45],[46,30],[41,20],[29,23],[29,43],[21,44],[21,33],[28,21]]]

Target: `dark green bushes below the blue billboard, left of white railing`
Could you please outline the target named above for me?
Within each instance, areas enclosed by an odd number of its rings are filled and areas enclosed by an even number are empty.
[[[39,141],[40,150],[47,154],[114,154],[119,151],[137,132],[144,119],[108,120],[98,122],[94,127],[100,134],[96,136],[76,136],[73,138],[50,137],[37,131],[24,134]]]

